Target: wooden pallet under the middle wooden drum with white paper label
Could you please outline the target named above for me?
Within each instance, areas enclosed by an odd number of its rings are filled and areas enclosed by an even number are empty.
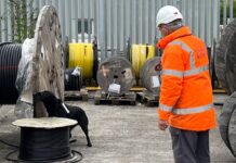
[[[123,96],[109,96],[102,90],[97,90],[94,95],[94,104],[135,105],[136,93],[129,91]]]

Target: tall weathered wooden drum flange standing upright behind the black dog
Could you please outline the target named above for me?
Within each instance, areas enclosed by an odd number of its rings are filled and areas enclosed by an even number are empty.
[[[64,100],[64,54],[55,8],[44,5],[41,9],[34,38],[36,47],[32,57],[32,93],[49,90]],[[34,105],[35,117],[48,115],[42,102],[35,101]]]

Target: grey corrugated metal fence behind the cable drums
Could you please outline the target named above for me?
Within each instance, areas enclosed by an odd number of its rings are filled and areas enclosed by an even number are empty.
[[[227,1],[224,0],[225,20]],[[91,41],[95,36],[102,58],[106,58],[109,54],[122,53],[128,39],[131,43],[154,43],[155,36],[160,37],[155,28],[156,13],[166,4],[178,7],[184,16],[184,23],[192,28],[193,34],[211,46],[214,38],[219,39],[220,2],[220,0],[34,0],[32,8],[54,5],[58,12],[63,39],[68,37],[69,41]],[[233,4],[233,0],[230,0],[230,3]],[[0,23],[0,38],[1,41],[10,41],[8,0],[0,1],[0,9],[3,17]],[[77,35],[78,28],[81,32],[80,36]],[[84,34],[86,29],[88,35]],[[110,52],[107,53],[107,50]]]

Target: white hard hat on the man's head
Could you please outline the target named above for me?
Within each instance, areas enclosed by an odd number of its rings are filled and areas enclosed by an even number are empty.
[[[180,11],[175,7],[166,5],[163,8],[160,8],[157,13],[156,27],[158,27],[160,24],[168,24],[175,20],[183,20]]]

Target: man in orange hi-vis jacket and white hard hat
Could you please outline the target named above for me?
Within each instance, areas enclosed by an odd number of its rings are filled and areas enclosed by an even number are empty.
[[[159,128],[168,126],[175,163],[209,163],[209,129],[215,127],[206,45],[184,26],[180,11],[161,8],[156,27],[163,49]]]

